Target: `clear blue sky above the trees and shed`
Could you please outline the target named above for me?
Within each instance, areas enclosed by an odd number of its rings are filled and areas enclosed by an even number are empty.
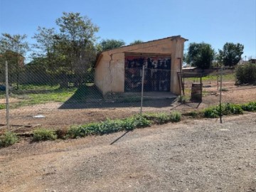
[[[0,33],[27,34],[51,28],[65,12],[79,12],[100,27],[101,39],[151,41],[167,36],[210,43],[242,43],[243,58],[256,58],[255,0],[0,0]]]

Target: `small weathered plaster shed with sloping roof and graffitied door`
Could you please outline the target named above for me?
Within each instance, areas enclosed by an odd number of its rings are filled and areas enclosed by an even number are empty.
[[[177,72],[181,72],[186,38],[171,36],[102,51],[95,63],[95,85],[107,92],[171,92],[178,95]]]

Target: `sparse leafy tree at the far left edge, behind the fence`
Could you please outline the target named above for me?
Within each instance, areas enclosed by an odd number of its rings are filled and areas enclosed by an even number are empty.
[[[19,87],[20,74],[24,66],[24,57],[28,51],[28,43],[25,41],[26,35],[11,35],[1,33],[0,37],[0,54],[1,60],[7,60],[9,63],[10,84],[16,82],[16,88]],[[3,62],[1,62],[3,63]],[[1,68],[4,66],[2,65]]]

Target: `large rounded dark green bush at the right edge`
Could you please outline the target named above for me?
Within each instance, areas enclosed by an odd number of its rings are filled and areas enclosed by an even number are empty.
[[[256,84],[256,64],[238,65],[235,70],[235,78],[238,84]]]

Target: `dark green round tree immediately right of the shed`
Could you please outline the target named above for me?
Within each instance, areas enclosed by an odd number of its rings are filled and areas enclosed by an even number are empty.
[[[208,69],[215,55],[214,49],[208,43],[190,43],[186,53],[186,63],[191,66]]]

